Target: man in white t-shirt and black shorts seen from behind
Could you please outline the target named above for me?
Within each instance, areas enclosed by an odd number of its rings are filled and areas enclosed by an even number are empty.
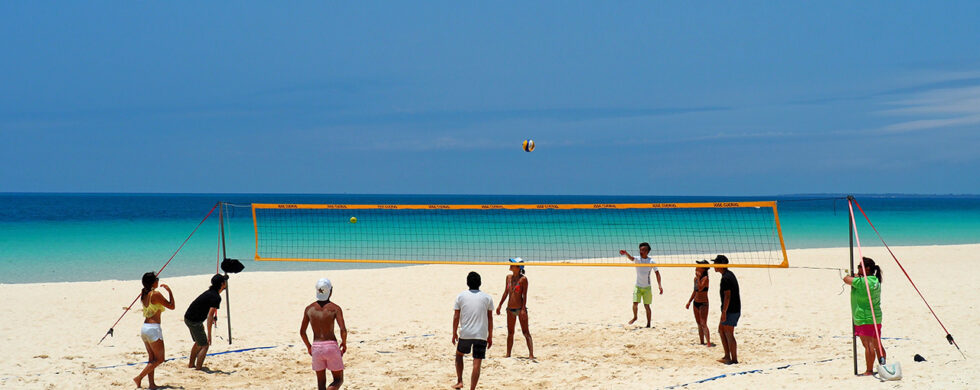
[[[453,304],[455,310],[453,344],[456,344],[457,380],[453,385],[454,389],[463,388],[463,355],[470,353],[470,349],[473,350],[470,390],[476,389],[476,383],[480,380],[480,363],[486,358],[487,349],[493,345],[493,298],[480,291],[480,284],[480,274],[470,272],[466,275],[466,285],[470,289],[459,293],[456,296],[456,303]]]

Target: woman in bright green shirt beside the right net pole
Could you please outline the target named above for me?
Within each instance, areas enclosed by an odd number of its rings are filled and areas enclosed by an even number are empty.
[[[881,334],[881,268],[875,265],[874,260],[864,257],[862,264],[858,264],[857,271],[854,275],[845,276],[844,283],[851,286],[854,335],[860,337],[861,344],[864,345],[864,361],[868,369],[861,375],[874,375],[872,368],[875,359],[885,355],[884,347],[878,344]]]

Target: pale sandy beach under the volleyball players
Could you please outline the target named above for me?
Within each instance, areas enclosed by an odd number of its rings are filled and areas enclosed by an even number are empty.
[[[980,262],[980,245],[893,249],[963,351],[973,355],[980,348],[975,332],[980,276],[972,265]],[[526,359],[519,331],[515,357],[503,358],[506,317],[496,316],[494,345],[484,361],[480,387],[955,389],[980,383],[980,371],[945,342],[942,329],[884,248],[865,251],[884,271],[885,348],[890,362],[902,364],[901,381],[879,383],[852,375],[848,292],[834,270],[735,270],[743,305],[736,328],[741,364],[725,366],[715,361],[722,355],[720,346],[698,344],[693,316],[684,309],[693,270],[661,269],[664,294],[654,297],[653,328],[644,329],[626,326],[632,269],[528,267],[528,308],[538,359]],[[791,267],[844,268],[848,253],[846,248],[792,250],[789,258]],[[209,276],[168,278],[164,273],[161,282],[172,287],[177,305],[163,314],[164,340],[167,357],[177,360],[157,369],[157,383],[182,389],[315,387],[298,330],[303,308],[314,300],[316,280],[328,277],[335,286],[333,301],[344,309],[350,330],[344,388],[449,388],[455,381],[452,302],[465,289],[471,270],[483,276],[482,290],[496,304],[505,267],[261,273],[246,268],[230,282],[234,343],[227,341],[228,302],[223,302],[215,331],[220,337],[211,352],[249,350],[209,357],[210,373],[186,367],[191,340],[182,322],[184,310],[206,289]],[[719,276],[711,273],[709,293],[716,342]],[[0,285],[0,300],[7,306],[0,316],[0,387],[134,387],[131,378],[142,365],[127,364],[147,357],[138,336],[139,313],[127,315],[114,337],[96,343],[139,293],[138,277]],[[915,354],[927,361],[913,362]],[[467,378],[470,367],[467,359]],[[724,374],[729,375],[695,383]]]

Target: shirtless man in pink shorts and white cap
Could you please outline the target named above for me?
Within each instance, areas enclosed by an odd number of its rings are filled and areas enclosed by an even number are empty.
[[[330,302],[330,294],[333,292],[333,285],[327,278],[316,282],[316,302],[311,303],[303,310],[303,324],[299,328],[299,335],[306,344],[306,352],[313,357],[313,371],[316,371],[316,384],[320,390],[337,390],[344,383],[344,359],[343,354],[347,352],[347,326],[344,325],[344,312],[340,306]],[[340,345],[337,345],[337,336],[333,333],[333,323],[337,321],[340,326]],[[306,337],[306,327],[313,323],[313,344]],[[329,369],[333,374],[333,382],[327,386],[327,372]]]

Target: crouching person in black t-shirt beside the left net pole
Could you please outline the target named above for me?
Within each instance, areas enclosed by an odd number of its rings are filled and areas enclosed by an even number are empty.
[[[211,345],[211,327],[218,320],[218,308],[221,307],[221,291],[228,286],[228,277],[215,274],[211,277],[211,287],[207,291],[198,295],[194,302],[187,307],[184,313],[184,324],[191,331],[191,338],[194,345],[191,347],[191,356],[188,359],[187,367],[204,370],[204,358],[208,356],[208,347]],[[204,332],[204,321],[208,321],[207,334]]]

